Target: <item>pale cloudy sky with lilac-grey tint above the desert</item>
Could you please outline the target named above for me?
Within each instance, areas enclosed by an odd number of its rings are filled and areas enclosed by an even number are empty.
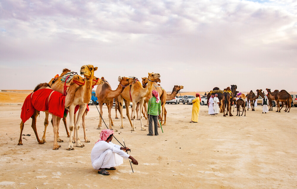
[[[0,0],[0,90],[86,64],[114,90],[154,72],[167,92],[297,91],[297,1]]]

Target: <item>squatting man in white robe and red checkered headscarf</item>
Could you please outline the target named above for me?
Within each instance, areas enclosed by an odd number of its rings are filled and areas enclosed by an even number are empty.
[[[91,161],[94,169],[99,174],[109,175],[106,170],[116,170],[115,166],[123,164],[123,158],[131,159],[132,163],[138,165],[136,159],[127,152],[129,148],[113,144],[113,130],[105,129],[100,133],[100,139],[95,143],[91,151]],[[124,150],[124,151],[122,151]]]

